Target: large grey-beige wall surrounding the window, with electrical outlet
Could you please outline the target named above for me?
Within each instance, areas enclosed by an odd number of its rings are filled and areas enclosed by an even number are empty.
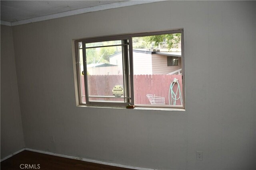
[[[253,1],[164,1],[13,27],[26,147],[145,168],[255,169],[255,18]],[[176,28],[186,111],[76,107],[72,39]]]

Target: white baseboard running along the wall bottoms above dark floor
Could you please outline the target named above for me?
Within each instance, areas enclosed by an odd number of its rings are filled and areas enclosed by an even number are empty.
[[[60,156],[60,157],[63,157],[63,158],[82,160],[82,161],[85,161],[85,162],[92,162],[92,163],[96,163],[96,164],[104,164],[104,165],[117,166],[117,167],[122,167],[122,168],[130,168],[130,169],[135,169],[135,170],[154,170],[154,169],[150,169],[150,168],[140,168],[140,167],[134,167],[134,166],[128,166],[128,165],[121,165],[121,164],[114,164],[114,163],[109,163],[109,162],[102,162],[102,161],[86,159],[86,158],[79,158],[79,157],[75,157],[75,156],[68,156],[68,155],[64,155],[64,154],[56,154],[56,153],[52,153],[52,152],[46,152],[46,151],[30,149],[30,148],[24,148],[22,150],[14,152],[13,154],[11,154],[9,156],[6,156],[5,158],[1,159],[1,162],[3,160],[6,160],[6,159],[12,157],[13,155],[15,155],[15,154],[17,154],[19,152],[22,152],[23,150],[28,150],[28,151],[38,152],[38,153],[43,153],[43,154],[49,154],[49,155],[53,155],[53,156]]]

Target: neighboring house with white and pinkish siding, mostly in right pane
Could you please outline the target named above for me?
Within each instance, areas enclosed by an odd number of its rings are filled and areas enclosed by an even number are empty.
[[[122,72],[122,53],[110,56],[110,64],[118,65]],[[160,52],[133,50],[134,75],[139,74],[179,74],[182,62],[181,52]]]

